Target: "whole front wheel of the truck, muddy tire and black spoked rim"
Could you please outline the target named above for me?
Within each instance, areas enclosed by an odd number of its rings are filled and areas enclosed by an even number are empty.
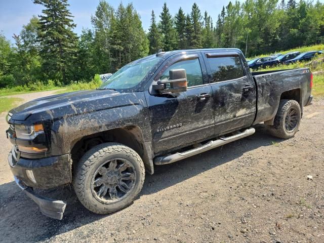
[[[79,201],[94,213],[109,214],[133,202],[143,187],[145,169],[130,147],[103,143],[85,153],[73,177]]]

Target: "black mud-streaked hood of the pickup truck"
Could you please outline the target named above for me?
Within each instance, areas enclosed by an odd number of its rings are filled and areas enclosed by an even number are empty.
[[[86,90],[35,99],[10,110],[9,113],[13,120],[55,119],[116,106],[134,105],[134,102],[138,103],[134,93]]]

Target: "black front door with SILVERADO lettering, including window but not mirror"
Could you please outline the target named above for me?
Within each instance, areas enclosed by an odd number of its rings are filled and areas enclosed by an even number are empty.
[[[181,53],[162,65],[154,80],[169,78],[171,69],[183,68],[188,89],[180,94],[146,93],[154,152],[185,146],[214,134],[212,88],[198,52]]]

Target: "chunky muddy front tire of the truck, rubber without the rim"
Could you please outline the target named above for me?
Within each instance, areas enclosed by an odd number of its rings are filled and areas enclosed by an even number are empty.
[[[128,159],[136,172],[135,185],[130,194],[113,204],[104,204],[93,195],[93,175],[102,163],[113,157]],[[77,198],[88,210],[97,214],[109,214],[129,206],[143,187],[145,169],[141,157],[130,147],[119,143],[103,143],[87,151],[78,161],[73,173],[73,187]]]

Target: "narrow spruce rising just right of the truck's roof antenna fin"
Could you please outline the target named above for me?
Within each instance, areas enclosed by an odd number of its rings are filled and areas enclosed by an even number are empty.
[[[164,50],[172,51],[177,48],[176,30],[173,27],[173,19],[166,3],[163,5],[160,19],[159,29],[163,34]]]

